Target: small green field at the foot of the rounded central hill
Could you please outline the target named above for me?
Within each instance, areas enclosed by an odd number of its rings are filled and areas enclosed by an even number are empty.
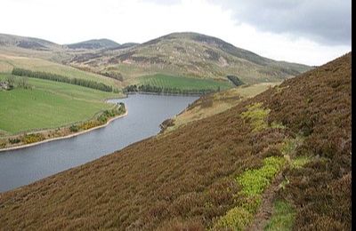
[[[162,88],[178,88],[182,90],[221,90],[229,89],[232,85],[229,82],[214,81],[211,79],[197,79],[182,76],[167,76],[157,74],[153,76],[142,76],[139,84],[150,84]]]

